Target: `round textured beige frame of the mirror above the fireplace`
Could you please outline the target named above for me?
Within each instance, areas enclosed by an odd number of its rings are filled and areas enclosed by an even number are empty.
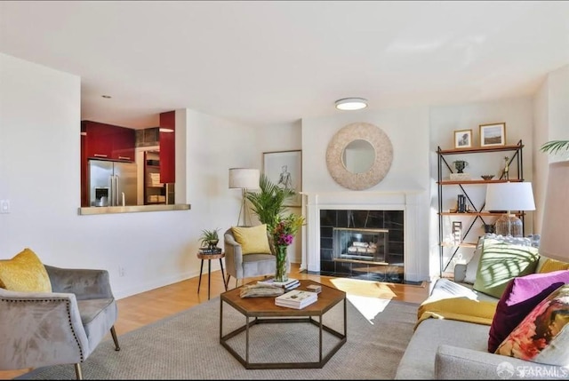
[[[352,173],[342,162],[344,149],[353,140],[368,141],[375,150],[375,161],[363,173]],[[330,175],[342,187],[363,190],[377,185],[388,174],[393,162],[393,146],[381,128],[370,123],[351,123],[336,132],[326,149],[326,166]]]

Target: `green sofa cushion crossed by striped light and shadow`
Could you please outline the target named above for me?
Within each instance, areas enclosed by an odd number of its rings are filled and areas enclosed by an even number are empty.
[[[509,281],[535,271],[539,257],[533,246],[486,238],[472,288],[501,298]]]

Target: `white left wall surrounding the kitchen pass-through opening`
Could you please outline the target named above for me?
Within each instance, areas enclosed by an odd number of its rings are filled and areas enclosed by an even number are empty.
[[[199,274],[201,230],[239,211],[228,168],[258,163],[251,128],[177,110],[176,196],[191,210],[79,216],[80,78],[0,54],[0,83],[0,200],[12,205],[0,258],[29,247],[52,266],[107,269],[117,298]]]

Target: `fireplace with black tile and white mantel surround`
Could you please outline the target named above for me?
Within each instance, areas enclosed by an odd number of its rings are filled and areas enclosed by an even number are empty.
[[[303,194],[302,269],[383,282],[421,280],[419,192]]]

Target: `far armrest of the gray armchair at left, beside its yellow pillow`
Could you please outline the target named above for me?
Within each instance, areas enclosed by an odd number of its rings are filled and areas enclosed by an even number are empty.
[[[114,298],[107,270],[45,266],[53,292],[75,294],[77,300]]]

